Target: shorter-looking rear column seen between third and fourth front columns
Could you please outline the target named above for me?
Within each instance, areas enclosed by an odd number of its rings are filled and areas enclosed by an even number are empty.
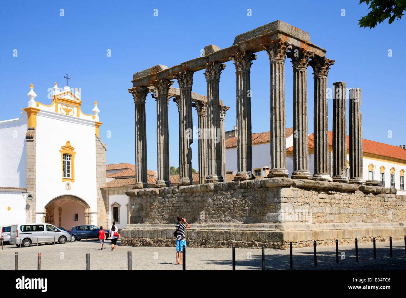
[[[207,176],[207,104],[203,101],[194,103],[198,119],[199,145],[199,184],[203,184]]]

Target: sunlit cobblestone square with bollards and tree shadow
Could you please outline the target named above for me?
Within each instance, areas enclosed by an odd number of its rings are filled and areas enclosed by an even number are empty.
[[[119,243],[119,242],[117,242]],[[28,248],[4,245],[0,251],[0,270],[14,270],[14,253],[18,252],[19,270],[37,270],[37,255],[41,253],[41,270],[85,270],[86,253],[91,254],[91,270],[127,270],[127,251],[132,252],[133,270],[181,270],[175,265],[174,247],[123,247],[111,251],[107,240],[100,250],[95,240],[66,244],[40,244]],[[313,266],[313,247],[293,249],[296,270],[406,270],[403,241],[393,241],[393,258],[389,257],[389,241],[376,242],[374,260],[372,242],[358,244],[359,262],[355,262],[354,244],[339,246],[339,264],[336,264],[335,246],[317,247],[317,266]],[[267,270],[290,270],[289,250],[266,249]],[[186,249],[187,270],[231,270],[232,250]],[[345,257],[345,259],[344,259]],[[261,269],[261,249],[236,249],[236,270]]]

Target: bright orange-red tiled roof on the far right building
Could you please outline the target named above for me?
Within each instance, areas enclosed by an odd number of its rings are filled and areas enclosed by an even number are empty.
[[[368,139],[362,139],[363,140],[363,152],[364,153],[370,153],[370,154],[375,154],[375,155],[380,155],[384,157],[391,157],[395,159],[401,159],[406,161],[406,150],[397,147],[397,146],[392,146],[389,144],[384,144],[376,141],[371,141]],[[312,133],[308,137],[308,144],[309,144],[309,149],[314,148],[314,134]],[[333,132],[329,131],[328,132],[328,146],[333,146]],[[350,149],[350,137],[347,135],[347,149]],[[293,146],[289,147],[287,151],[293,151]]]

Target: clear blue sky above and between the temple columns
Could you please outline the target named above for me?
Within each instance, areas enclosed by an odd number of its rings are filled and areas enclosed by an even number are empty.
[[[65,16],[60,16],[64,9]],[[158,17],[153,10],[158,9]],[[247,16],[247,10],[252,16]],[[345,16],[341,16],[345,9]],[[2,1],[0,2],[0,120],[17,118],[27,106],[32,83],[37,101],[50,104],[54,82],[81,88],[82,111],[93,102],[100,109],[107,163],[134,163],[133,73],[156,64],[168,67],[200,56],[205,45],[232,45],[234,37],[277,19],[310,34],[311,42],[336,60],[328,85],[345,81],[362,88],[363,137],[392,145],[406,144],[405,28],[406,19],[368,30],[357,20],[367,5],[348,1]],[[13,50],[17,49],[17,57]],[[111,57],[106,51],[111,50]],[[393,52],[388,57],[388,49]],[[265,52],[251,68],[253,132],[269,131],[269,60]],[[292,64],[286,63],[287,127],[292,127]],[[313,132],[313,75],[308,69],[309,133]],[[177,87],[177,83],[173,86]],[[206,94],[203,71],[194,74],[193,92]],[[235,120],[235,68],[232,62],[220,78],[220,99],[231,108],[226,131]],[[329,100],[332,130],[333,100]],[[156,102],[147,97],[148,168],[156,169]],[[197,114],[193,111],[197,126]],[[169,104],[170,164],[179,165],[178,111]],[[388,131],[393,132],[388,138]],[[111,131],[107,138],[106,131]],[[198,169],[197,140],[192,166]]]

